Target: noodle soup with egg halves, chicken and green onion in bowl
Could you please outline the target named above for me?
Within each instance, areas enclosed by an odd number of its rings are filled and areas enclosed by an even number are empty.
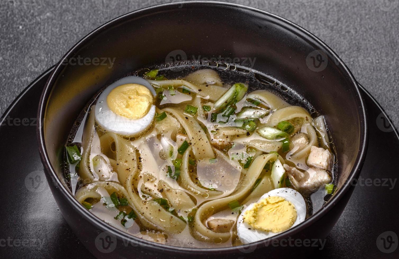
[[[119,230],[181,247],[251,243],[311,216],[335,188],[324,116],[244,75],[192,70],[103,89],[65,146],[77,200]]]

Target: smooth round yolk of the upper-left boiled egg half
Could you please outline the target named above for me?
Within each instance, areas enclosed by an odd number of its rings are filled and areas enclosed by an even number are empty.
[[[116,114],[137,120],[143,118],[151,108],[151,91],[141,84],[122,84],[107,96],[107,104]]]

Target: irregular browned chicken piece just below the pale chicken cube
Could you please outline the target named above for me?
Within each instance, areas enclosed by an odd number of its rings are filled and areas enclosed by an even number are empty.
[[[315,192],[320,186],[331,182],[330,174],[326,170],[310,167],[302,172],[287,164],[283,166],[288,173],[292,186],[298,191]]]

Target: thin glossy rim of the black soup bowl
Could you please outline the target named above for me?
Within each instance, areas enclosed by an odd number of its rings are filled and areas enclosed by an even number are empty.
[[[263,16],[267,16],[269,18],[275,19],[281,23],[281,25],[285,25],[290,29],[296,29],[300,31],[302,34],[300,35],[303,38],[306,38],[310,40],[311,42],[317,43],[320,46],[322,46],[326,51],[328,51],[328,54],[334,57],[336,60],[336,65],[339,65],[342,67],[342,71],[348,75],[348,80],[351,82],[355,94],[358,100],[356,100],[359,104],[358,112],[360,116],[360,147],[358,151],[358,155],[356,157],[356,160],[354,162],[354,166],[348,175],[346,184],[344,184],[340,190],[334,194],[330,200],[327,202],[326,205],[320,210],[318,210],[315,214],[310,216],[308,219],[306,219],[304,222],[301,224],[298,224],[294,228],[290,228],[289,230],[286,230],[285,232],[282,232],[278,235],[275,235],[273,237],[270,237],[265,240],[271,240],[271,239],[282,239],[284,237],[290,237],[306,228],[308,226],[312,225],[314,222],[318,221],[320,218],[322,218],[324,215],[326,215],[345,195],[346,193],[350,190],[353,189],[354,186],[351,186],[348,184],[350,182],[349,180],[357,179],[361,170],[361,167],[363,166],[363,161],[365,159],[366,155],[366,150],[367,150],[367,144],[368,144],[368,124],[367,124],[367,115],[366,115],[366,106],[363,100],[363,96],[361,95],[361,92],[359,90],[359,86],[357,81],[355,80],[354,76],[352,75],[351,71],[348,69],[348,67],[345,65],[345,63],[338,57],[338,55],[330,48],[328,45],[326,45],[322,40],[320,40],[318,37],[307,31],[306,29],[298,26],[297,24],[290,22],[289,20],[282,18],[280,16],[277,16],[275,14],[272,14],[270,12],[260,10],[257,8],[249,7],[249,6],[243,6],[240,4],[233,4],[233,3],[227,3],[227,2],[217,2],[217,1],[182,1],[182,2],[170,2],[166,4],[159,4],[155,6],[149,6],[146,8],[141,8],[138,10],[134,10],[132,12],[128,12],[126,14],[123,14],[122,16],[119,16],[117,18],[114,18],[113,20],[110,20],[109,22],[97,27],[90,33],[88,33],[85,37],[80,39],[67,53],[62,57],[61,61],[64,59],[67,59],[69,56],[73,55],[74,52],[79,49],[82,45],[85,45],[87,42],[91,40],[92,37],[95,35],[99,34],[101,31],[108,29],[109,27],[115,26],[117,24],[120,24],[124,22],[125,19],[130,19],[131,17],[134,17],[136,15],[140,15],[142,12],[155,12],[157,10],[162,10],[164,7],[171,7],[171,6],[178,6],[178,5],[189,5],[189,6],[195,6],[195,5],[209,5],[209,6],[215,6],[215,7],[222,7],[222,8],[236,8],[239,11],[252,11],[256,12],[258,14],[261,14]],[[51,94],[51,90],[53,88],[53,84],[55,80],[57,79],[59,73],[63,69],[63,65],[61,62],[59,62],[57,65],[55,65],[55,68],[53,72],[51,73],[50,77],[48,78],[45,88],[43,89],[43,92],[41,94],[40,98],[40,103],[38,107],[38,126],[37,126],[37,136],[38,136],[38,142],[39,142],[39,153],[41,157],[41,161],[43,163],[43,167],[45,168],[45,172],[49,177],[51,177],[52,181],[54,184],[59,186],[59,192],[63,195],[63,197],[69,201],[71,206],[82,216],[85,217],[85,219],[89,222],[91,222],[93,225],[95,225],[99,230],[103,230],[104,232],[110,232],[113,235],[119,237],[119,239],[127,239],[129,242],[136,241],[136,243],[150,247],[151,249],[156,249],[158,251],[169,251],[169,252],[189,252],[189,253],[196,253],[196,254],[215,254],[215,252],[221,252],[221,253],[234,253],[237,251],[242,251],[241,249],[245,249],[245,247],[248,247],[248,245],[253,245],[255,247],[258,247],[258,245],[261,245],[262,243],[265,243],[265,240],[260,240],[257,242],[253,242],[247,245],[239,245],[239,246],[232,246],[232,247],[220,247],[220,248],[191,248],[191,247],[178,247],[178,246],[172,246],[172,245],[163,245],[160,243],[155,243],[151,241],[146,241],[144,239],[140,239],[138,237],[135,237],[133,235],[130,235],[126,232],[122,232],[121,230],[114,228],[110,226],[109,224],[103,222],[99,218],[97,218],[94,214],[89,212],[87,209],[83,208],[81,204],[77,201],[77,199],[71,194],[70,190],[63,184],[63,182],[59,179],[57,174],[55,173],[55,170],[51,166],[51,163],[49,161],[49,157],[47,155],[47,150],[45,147],[45,138],[44,138],[44,130],[43,130],[43,121],[44,121],[44,116],[45,116],[45,111],[47,108],[47,101],[49,98],[49,95]],[[94,240],[93,240],[94,242]],[[127,245],[126,245],[127,246]]]

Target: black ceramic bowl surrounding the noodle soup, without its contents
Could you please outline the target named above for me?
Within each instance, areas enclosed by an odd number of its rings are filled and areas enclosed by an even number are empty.
[[[274,237],[299,240],[300,245],[259,241],[245,247],[190,249],[143,241],[96,218],[67,188],[59,154],[86,103],[103,86],[135,69],[173,61],[170,56],[179,59],[182,53],[187,59],[199,55],[235,57],[242,62],[246,57],[256,58],[253,69],[292,87],[326,116],[338,155],[338,188],[324,208],[304,223]],[[110,68],[109,62],[99,65],[95,58],[99,58],[99,63],[102,58],[115,58],[115,62]],[[354,187],[347,183],[358,177],[367,145],[367,118],[358,85],[328,46],[292,22],[235,4],[164,4],[131,12],[95,29],[63,60],[55,67],[41,96],[40,155],[61,213],[97,257],[221,258],[253,257],[254,253],[257,256],[308,253],[310,250],[304,249],[309,246],[305,240],[324,239],[352,194]]]

